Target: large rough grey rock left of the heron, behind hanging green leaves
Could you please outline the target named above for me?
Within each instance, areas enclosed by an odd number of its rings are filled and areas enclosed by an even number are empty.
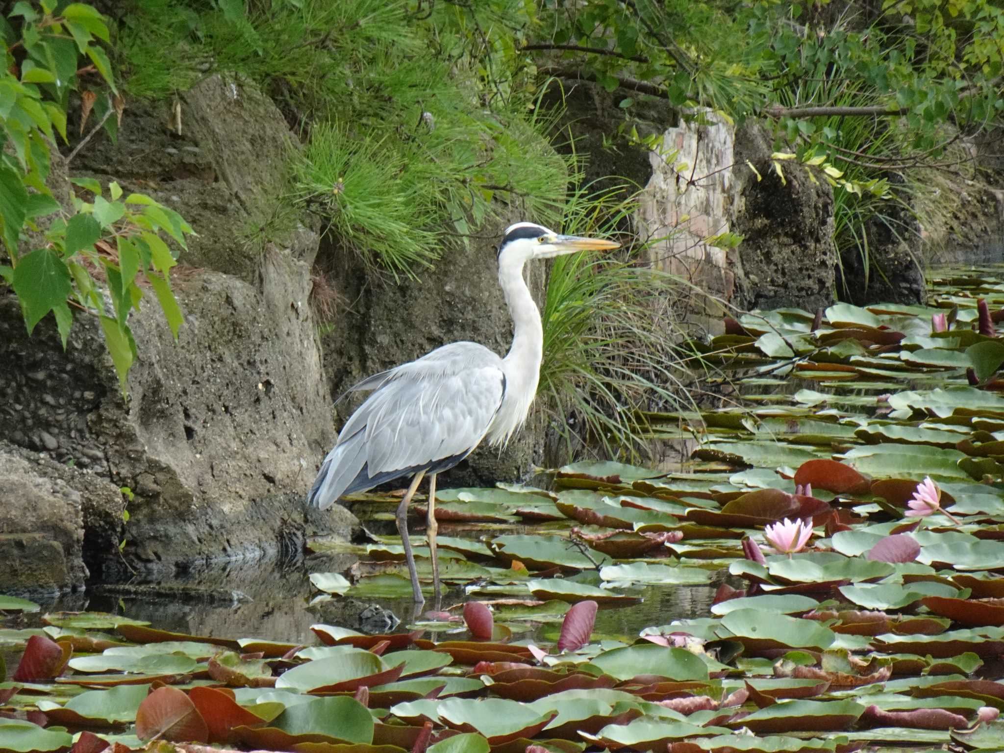
[[[335,435],[308,303],[319,237],[282,208],[292,137],[267,97],[218,76],[188,92],[181,113],[184,136],[169,112],[138,105],[117,146],[95,138],[70,166],[153,195],[199,234],[172,276],[186,316],[179,341],[150,291],[130,319],[140,358],[129,398],[92,317],[77,316],[63,351],[51,317],[29,337],[17,300],[0,296],[0,439],[50,459],[0,483],[0,563],[41,561],[24,552],[45,546],[53,562],[16,581],[0,564],[2,586],[65,588],[87,567],[108,576],[127,562],[188,567],[296,549],[355,525],[343,508],[303,503]],[[54,160],[57,197],[65,174]],[[283,214],[283,228],[269,225]],[[62,478],[58,464],[76,475]],[[38,499],[18,504],[33,486]],[[135,495],[128,523],[119,487]]]

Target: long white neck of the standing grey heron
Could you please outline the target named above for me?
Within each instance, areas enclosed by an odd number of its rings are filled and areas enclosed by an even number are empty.
[[[508,354],[502,359],[505,395],[488,431],[492,444],[507,442],[526,421],[530,404],[537,393],[540,361],[544,352],[544,329],[540,311],[523,279],[523,260],[499,260],[499,284],[512,316],[513,337]]]

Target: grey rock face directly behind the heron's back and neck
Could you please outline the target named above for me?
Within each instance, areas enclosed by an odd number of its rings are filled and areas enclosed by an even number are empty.
[[[510,213],[486,222],[478,237],[470,239],[469,248],[460,244],[445,248],[436,268],[422,272],[420,283],[379,278],[367,273],[351,252],[322,245],[316,272],[339,300],[335,319],[323,327],[321,337],[331,395],[337,398],[363,378],[448,342],[472,340],[505,355],[512,341],[512,320],[498,284],[498,243],[505,228],[522,219],[533,218]],[[524,273],[539,306],[546,266],[532,263]],[[349,394],[337,404],[339,427],[366,395]],[[541,424],[531,414],[505,448],[479,448],[444,473],[440,486],[494,484],[525,476],[540,462]]]

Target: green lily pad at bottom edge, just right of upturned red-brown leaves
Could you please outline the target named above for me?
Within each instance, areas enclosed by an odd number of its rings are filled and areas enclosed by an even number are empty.
[[[308,742],[371,743],[373,718],[358,701],[332,696],[290,706],[268,727],[235,727],[233,735],[252,748],[270,750]]]

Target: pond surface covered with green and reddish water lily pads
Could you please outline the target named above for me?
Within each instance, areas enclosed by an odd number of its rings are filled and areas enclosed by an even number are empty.
[[[0,595],[0,750],[84,726],[130,750],[1004,750],[1004,267],[930,283],[930,306],[747,314],[685,343],[718,397],[648,417],[658,468],[442,490],[445,593],[417,611],[393,493],[350,502],[368,540],[297,561],[92,584],[45,615]],[[768,538],[783,518],[804,549]],[[58,613],[83,609],[111,616]]]

